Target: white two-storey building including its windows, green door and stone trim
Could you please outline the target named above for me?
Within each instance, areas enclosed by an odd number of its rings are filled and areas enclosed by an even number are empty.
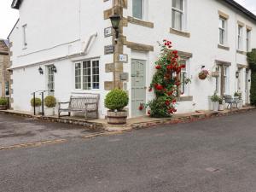
[[[130,117],[143,115],[139,104],[153,98],[148,86],[160,53],[157,42],[164,38],[186,61],[183,74],[192,80],[181,86],[178,113],[211,109],[215,90],[219,95],[240,90],[249,103],[246,53],[256,47],[256,16],[233,0],[14,0],[12,7],[20,11],[9,35],[15,110],[31,110],[35,90],[54,89],[60,102],[100,93],[104,118],[104,97],[113,88],[113,54],[107,53],[114,13],[122,16],[114,74],[116,84],[129,92]],[[220,76],[200,80],[203,66],[218,69]]]

